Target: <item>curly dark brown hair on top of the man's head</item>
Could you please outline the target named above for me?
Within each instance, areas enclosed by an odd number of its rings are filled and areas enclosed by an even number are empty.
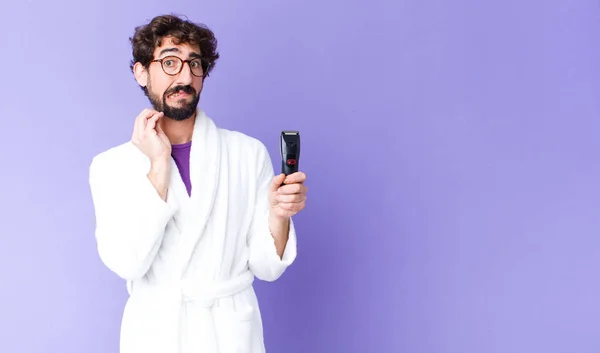
[[[154,50],[165,37],[172,37],[175,44],[198,45],[205,77],[208,77],[219,59],[215,34],[204,24],[176,15],[156,16],[148,24],[135,28],[133,37],[129,38],[133,52],[129,68],[133,70],[136,62],[147,68],[154,59]]]

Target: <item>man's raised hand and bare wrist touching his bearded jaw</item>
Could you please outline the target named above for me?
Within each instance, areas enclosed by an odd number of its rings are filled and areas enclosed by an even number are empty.
[[[158,123],[163,116],[156,110],[144,109],[135,119],[131,142],[150,159],[148,178],[166,201],[171,175],[171,142]]]

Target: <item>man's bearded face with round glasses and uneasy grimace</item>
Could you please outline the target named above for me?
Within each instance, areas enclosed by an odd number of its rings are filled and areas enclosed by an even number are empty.
[[[146,95],[154,109],[164,112],[165,117],[181,121],[196,112],[203,85],[200,54],[198,46],[174,45],[170,38],[165,38],[155,49],[154,59],[163,62],[150,63],[145,77]]]

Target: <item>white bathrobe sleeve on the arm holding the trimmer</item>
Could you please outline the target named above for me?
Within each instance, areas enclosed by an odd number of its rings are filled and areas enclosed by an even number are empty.
[[[282,258],[277,254],[275,240],[269,229],[269,186],[275,176],[266,147],[258,143],[257,194],[249,234],[250,270],[264,281],[275,281],[296,259],[296,229],[290,219],[289,238]]]

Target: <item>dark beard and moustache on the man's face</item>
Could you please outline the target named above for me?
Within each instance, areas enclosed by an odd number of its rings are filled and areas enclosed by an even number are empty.
[[[187,102],[185,98],[180,99],[178,102],[180,106],[173,107],[167,104],[167,97],[173,93],[184,92],[192,95],[192,100]],[[162,98],[152,93],[150,84],[146,89],[146,96],[150,100],[150,103],[154,109],[158,112],[163,112],[166,118],[173,119],[176,121],[183,121],[189,119],[196,113],[198,102],[200,101],[200,93],[196,92],[191,86],[175,86],[163,94]]]

